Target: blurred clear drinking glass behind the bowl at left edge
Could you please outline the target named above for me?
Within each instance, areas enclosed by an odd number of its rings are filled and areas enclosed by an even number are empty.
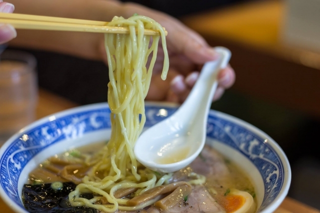
[[[36,60],[26,52],[5,50],[0,55],[0,146],[35,120]]]

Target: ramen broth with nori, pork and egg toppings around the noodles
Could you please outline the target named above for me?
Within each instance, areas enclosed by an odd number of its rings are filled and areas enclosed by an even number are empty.
[[[41,163],[38,168],[29,174],[29,182],[23,188],[25,208],[30,212],[77,212],[77,213],[102,213],[92,208],[73,208],[68,203],[68,193],[74,190],[81,179],[92,169],[95,159],[92,158],[96,150],[105,149],[106,142],[73,149],[60,155],[55,155]],[[138,171],[145,170],[138,165]],[[97,171],[97,173],[99,173]],[[163,199],[171,196],[174,189],[191,190],[178,202],[173,202],[167,210],[151,205],[131,213],[253,213],[255,212],[255,193],[252,184],[237,166],[224,158],[212,148],[205,146],[201,154],[188,167],[171,174],[152,172],[156,179],[160,180],[165,175],[169,178],[163,187],[172,188],[155,199]],[[105,174],[96,174],[103,179]],[[156,187],[155,187],[156,188]],[[153,189],[155,189],[153,188]],[[63,191],[68,189],[68,191]],[[153,190],[151,189],[151,190]],[[64,194],[62,193],[64,192]],[[150,191],[150,190],[149,190]],[[53,195],[53,198],[42,197]],[[140,203],[133,195],[138,193],[137,189],[120,189],[114,193],[116,198],[127,199],[126,205],[137,205]],[[148,194],[148,191],[144,192]],[[140,196],[142,196],[142,193]],[[153,190],[152,193],[157,193]],[[183,193],[182,193],[183,194]],[[81,196],[88,200],[96,199],[96,204],[110,205],[106,199],[97,194],[89,193]],[[250,204],[250,200],[254,203]],[[133,199],[134,198],[134,199]],[[37,202],[32,202],[36,200]],[[131,202],[131,203],[130,203]],[[47,205],[47,204],[50,205]],[[154,202],[153,202],[154,203]],[[38,206],[38,207],[35,207]],[[37,210],[37,208],[40,208]],[[67,208],[67,209],[65,209]],[[152,212],[153,211],[153,212]],[[122,211],[117,211],[121,213]]]

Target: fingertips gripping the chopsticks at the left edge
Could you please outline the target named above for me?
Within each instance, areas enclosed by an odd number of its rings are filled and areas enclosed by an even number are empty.
[[[0,12],[11,13],[14,10],[14,6],[11,3],[2,2],[0,0]],[[12,38],[16,37],[16,31],[10,24],[0,24],[0,44],[8,42]]]

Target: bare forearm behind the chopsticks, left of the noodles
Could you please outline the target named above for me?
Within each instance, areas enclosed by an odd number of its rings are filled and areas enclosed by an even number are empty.
[[[119,15],[121,3],[113,0],[8,0],[15,13],[108,21]],[[9,44],[44,49],[90,59],[101,59],[101,33],[17,30]]]

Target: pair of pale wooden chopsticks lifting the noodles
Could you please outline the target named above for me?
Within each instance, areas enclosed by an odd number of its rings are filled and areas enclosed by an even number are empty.
[[[128,34],[127,27],[106,26],[108,22],[60,18],[41,15],[27,15],[0,12],[0,23],[9,23],[16,29],[59,30],[76,32],[99,32]],[[145,29],[145,35],[159,35],[158,30]],[[167,31],[165,31],[165,35]]]

